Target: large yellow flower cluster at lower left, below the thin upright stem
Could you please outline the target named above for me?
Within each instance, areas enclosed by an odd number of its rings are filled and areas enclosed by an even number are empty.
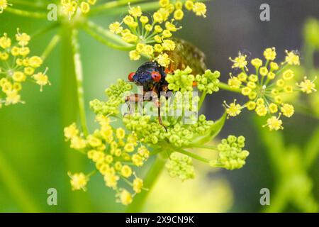
[[[134,132],[125,133],[123,128],[113,128],[108,116],[97,115],[96,121],[100,127],[93,134],[84,137],[75,123],[72,123],[65,128],[65,138],[70,140],[71,148],[86,153],[94,162],[96,170],[103,175],[106,186],[117,192],[118,201],[128,205],[143,186],[142,179],[136,177],[130,166],[142,166],[150,152],[145,146],[139,145]],[[69,176],[72,189],[85,189],[89,175],[79,173]],[[132,187],[133,193],[118,186],[120,179]],[[133,181],[130,182],[130,179]]]

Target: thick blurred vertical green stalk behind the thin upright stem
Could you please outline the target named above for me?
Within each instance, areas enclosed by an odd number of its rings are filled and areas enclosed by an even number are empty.
[[[61,109],[62,109],[62,127],[69,126],[78,119],[78,98],[77,98],[77,77],[75,75],[74,56],[72,50],[72,27],[65,24],[62,28],[62,94],[61,94]],[[79,172],[84,169],[84,161],[86,158],[74,150],[69,148],[65,143],[65,162],[66,169],[71,172]],[[65,185],[67,185],[67,198],[70,199],[69,205],[72,212],[90,211],[90,202],[85,192],[72,192],[69,185],[69,178],[65,172]]]

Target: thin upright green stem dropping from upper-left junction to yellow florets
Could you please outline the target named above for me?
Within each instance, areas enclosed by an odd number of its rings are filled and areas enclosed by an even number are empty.
[[[83,70],[81,55],[79,52],[79,40],[78,33],[76,29],[72,31],[72,53],[75,76],[77,78],[77,102],[79,105],[79,116],[81,120],[82,130],[84,135],[88,135],[88,130],[86,126],[86,116],[85,116],[85,102],[84,102],[84,89],[83,89]]]

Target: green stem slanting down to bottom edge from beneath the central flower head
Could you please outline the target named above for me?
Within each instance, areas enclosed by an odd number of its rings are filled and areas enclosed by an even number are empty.
[[[159,175],[162,173],[162,170],[164,170],[165,163],[167,161],[167,157],[164,156],[164,153],[159,153],[156,157],[156,160],[154,163],[152,163],[152,167],[147,173],[147,176],[144,179],[144,186],[148,189],[148,191],[142,191],[139,194],[137,194],[132,204],[128,206],[127,212],[140,212],[142,211],[145,201],[147,199],[147,196],[150,194],[150,191],[152,190],[152,187],[154,187],[155,183],[157,182],[157,179],[159,178]]]

